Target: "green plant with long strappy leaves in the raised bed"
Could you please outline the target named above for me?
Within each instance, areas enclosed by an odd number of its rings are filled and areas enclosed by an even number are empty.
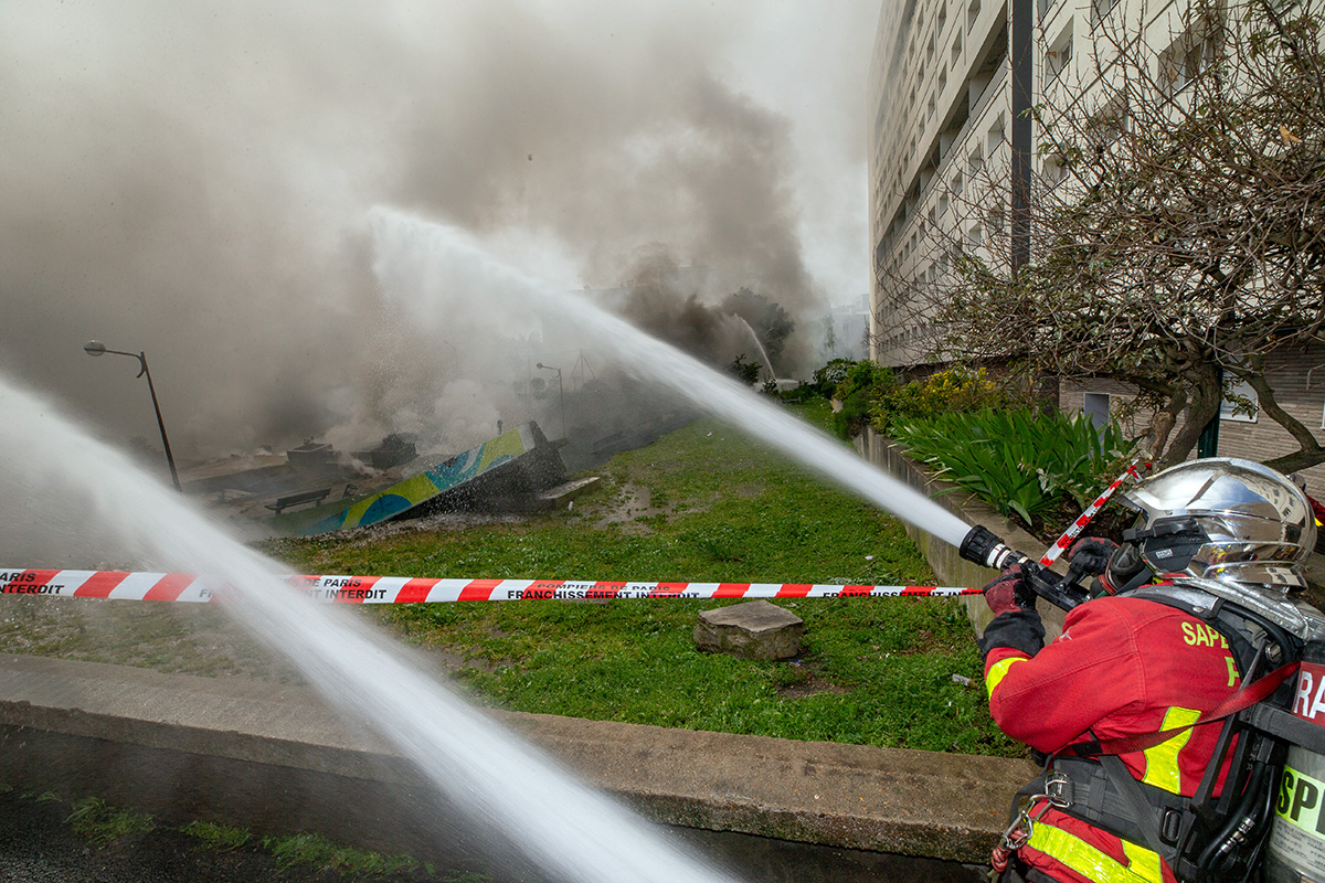
[[[1113,422],[1026,409],[953,412],[898,421],[892,437],[958,487],[1032,530],[1064,510],[1085,508],[1122,470],[1132,450]]]

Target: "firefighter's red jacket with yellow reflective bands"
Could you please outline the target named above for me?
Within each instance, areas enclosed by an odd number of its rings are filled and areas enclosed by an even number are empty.
[[[1242,684],[1227,641],[1200,620],[1155,601],[1105,597],[1067,614],[1063,635],[1039,649],[1034,612],[1004,613],[982,638],[990,712],[999,728],[1052,753],[1088,739],[1121,739],[1182,727]],[[1192,796],[1215,749],[1219,723],[1185,729],[1143,752],[1121,755],[1140,781]],[[1032,817],[1040,809],[1031,809]],[[1158,854],[1048,808],[1020,851],[1064,883],[1174,879]]]

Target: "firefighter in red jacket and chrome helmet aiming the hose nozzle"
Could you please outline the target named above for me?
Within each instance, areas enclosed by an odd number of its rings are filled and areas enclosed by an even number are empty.
[[[1283,601],[1305,588],[1312,511],[1292,482],[1265,466],[1191,461],[1129,490],[1122,502],[1140,516],[1121,548],[1085,539],[1071,549],[1069,560],[1098,575],[1098,596],[1069,610],[1049,645],[1018,565],[984,589],[995,614],[980,638],[990,712],[1045,761],[995,850],[1002,880],[1191,876],[1191,863],[1175,851],[1177,834],[1220,733],[1218,721],[1191,724],[1239,690],[1255,658],[1248,641],[1227,634],[1234,629],[1212,625],[1211,605],[1199,598],[1236,590]],[[1073,756],[1083,744],[1170,729],[1179,732],[1145,749]],[[1216,793],[1227,767],[1216,765]],[[1263,831],[1268,822],[1257,825]],[[1190,838],[1183,845],[1189,853],[1202,847]]]

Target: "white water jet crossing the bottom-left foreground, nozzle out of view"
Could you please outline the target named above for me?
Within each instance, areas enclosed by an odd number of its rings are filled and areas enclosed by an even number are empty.
[[[50,402],[0,377],[0,410],[21,428],[0,434],[0,463],[23,463],[4,473],[7,507],[50,508],[58,499],[70,519],[86,519],[78,530],[89,535],[107,532],[121,549],[236,586],[242,602],[223,609],[347,719],[367,721],[415,764],[420,781],[461,802],[494,853],[501,845],[567,883],[734,883],[490,721],[367,624],[310,604],[273,576],[280,564],[227,536]],[[42,443],[30,446],[34,437]]]

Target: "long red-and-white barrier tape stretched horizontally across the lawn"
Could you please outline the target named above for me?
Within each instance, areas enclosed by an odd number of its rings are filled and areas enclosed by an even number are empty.
[[[983,589],[925,585],[808,585],[790,582],[574,582],[570,580],[420,580],[407,576],[288,576],[311,600],[329,604],[639,598],[894,598],[957,597]],[[223,600],[224,582],[186,573],[0,568],[0,594],[123,601]]]

